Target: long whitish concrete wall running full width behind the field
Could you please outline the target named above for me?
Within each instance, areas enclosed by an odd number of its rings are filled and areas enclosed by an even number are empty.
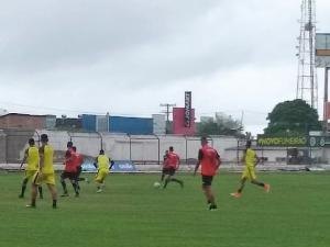
[[[43,133],[48,134],[50,143],[55,149],[55,162],[58,164],[63,161],[68,141],[72,141],[78,151],[90,162],[102,148],[114,160],[132,160],[138,165],[158,165],[163,161],[165,150],[173,146],[183,164],[194,166],[200,148],[200,138],[197,136],[3,130],[0,131],[0,162],[20,162],[28,147],[28,139],[34,137],[36,145],[40,145],[40,136]],[[209,143],[219,151],[223,165],[235,165],[243,156],[244,141],[232,136],[211,136]],[[264,158],[265,166],[286,165],[289,158],[288,148],[254,146],[257,155]],[[310,155],[314,162],[327,164],[330,160],[328,147],[299,148],[299,151]]]

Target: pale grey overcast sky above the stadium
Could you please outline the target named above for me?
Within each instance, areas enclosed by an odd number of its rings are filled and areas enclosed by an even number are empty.
[[[198,117],[261,133],[296,96],[300,2],[0,0],[0,109],[151,116],[193,91]],[[329,10],[317,0],[317,32]]]

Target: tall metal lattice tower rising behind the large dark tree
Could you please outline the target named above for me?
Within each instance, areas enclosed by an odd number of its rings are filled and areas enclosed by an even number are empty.
[[[298,78],[296,98],[318,109],[318,80],[315,67],[316,0],[301,0],[298,36]]]

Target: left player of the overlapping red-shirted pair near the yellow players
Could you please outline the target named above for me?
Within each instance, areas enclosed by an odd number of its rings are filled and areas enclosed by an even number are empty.
[[[76,198],[78,198],[79,189],[77,182],[77,165],[75,162],[75,151],[73,149],[73,142],[67,143],[67,151],[65,153],[64,171],[61,175],[61,184],[63,188],[63,194],[61,197],[69,195],[66,188],[65,179],[70,180],[76,193]]]

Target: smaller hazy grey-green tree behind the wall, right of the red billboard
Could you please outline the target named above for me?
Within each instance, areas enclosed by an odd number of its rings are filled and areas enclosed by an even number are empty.
[[[223,113],[217,113],[215,119],[209,117],[198,125],[199,135],[238,135],[242,130],[239,121]]]

